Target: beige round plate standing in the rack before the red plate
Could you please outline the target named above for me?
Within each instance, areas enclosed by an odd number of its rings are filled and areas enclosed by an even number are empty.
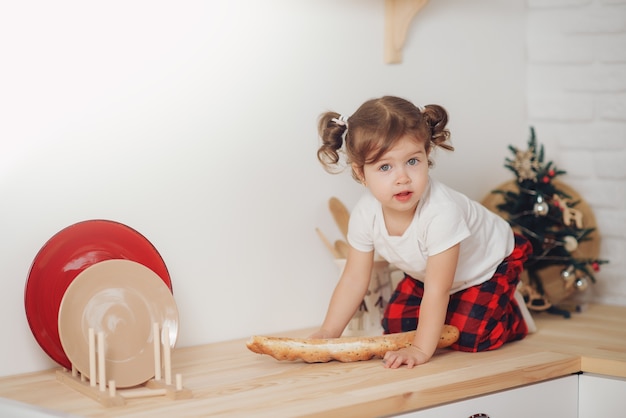
[[[70,362],[89,376],[89,328],[104,333],[105,372],[119,388],[154,376],[154,323],[178,336],[178,309],[170,289],[148,267],[130,260],[106,260],[81,272],[59,308],[59,336]]]

